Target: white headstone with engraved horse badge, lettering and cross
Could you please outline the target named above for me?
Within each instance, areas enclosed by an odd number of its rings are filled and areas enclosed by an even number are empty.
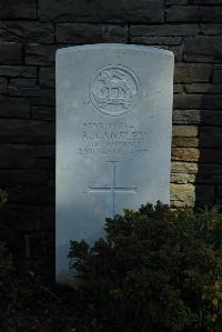
[[[107,217],[169,202],[172,95],[172,52],[57,52],[57,281],[69,280],[70,240],[92,243]]]

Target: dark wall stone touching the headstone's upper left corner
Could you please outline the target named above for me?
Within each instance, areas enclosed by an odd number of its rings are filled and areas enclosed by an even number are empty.
[[[56,46],[28,44],[26,47],[26,63],[52,66],[54,63]]]

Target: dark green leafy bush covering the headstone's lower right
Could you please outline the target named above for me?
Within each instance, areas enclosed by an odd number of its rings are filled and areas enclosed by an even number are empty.
[[[92,248],[71,241],[88,331],[222,331],[222,214],[160,202],[105,223]]]

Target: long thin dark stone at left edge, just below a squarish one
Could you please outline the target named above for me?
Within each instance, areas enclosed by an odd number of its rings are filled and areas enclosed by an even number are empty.
[[[37,67],[28,66],[0,66],[0,76],[9,78],[36,78]]]

